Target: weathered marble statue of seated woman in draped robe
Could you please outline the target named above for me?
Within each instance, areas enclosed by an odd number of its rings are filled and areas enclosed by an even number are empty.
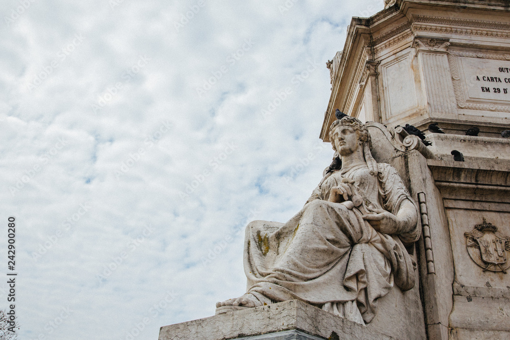
[[[336,120],[329,140],[341,167],[325,171],[287,223],[248,224],[247,293],[218,302],[217,313],[298,299],[365,324],[394,283],[413,288],[415,264],[405,247],[419,239],[420,228],[402,178],[373,159],[358,119]]]

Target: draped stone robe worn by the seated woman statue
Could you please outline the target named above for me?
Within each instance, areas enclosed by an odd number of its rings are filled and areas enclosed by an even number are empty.
[[[271,302],[298,299],[364,324],[374,318],[377,299],[394,283],[403,291],[412,289],[414,264],[404,244],[419,239],[419,228],[384,234],[363,220],[363,210],[327,201],[330,189],[349,178],[365,213],[384,209],[396,215],[404,200],[416,208],[397,171],[388,164],[377,166],[377,175],[366,165],[326,174],[287,223],[248,224],[247,292]]]

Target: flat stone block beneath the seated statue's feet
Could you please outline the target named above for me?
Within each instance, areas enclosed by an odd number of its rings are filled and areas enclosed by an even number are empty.
[[[300,330],[324,339],[331,335],[331,338],[340,339],[394,339],[370,327],[292,300],[164,326],[160,329],[159,340],[226,340],[287,330]]]

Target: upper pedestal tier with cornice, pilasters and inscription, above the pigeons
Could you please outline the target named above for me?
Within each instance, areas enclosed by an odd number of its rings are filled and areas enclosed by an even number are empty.
[[[480,136],[498,137],[510,118],[508,2],[389,4],[352,19],[321,138],[328,140],[336,109],[389,127],[426,130],[438,122],[447,134],[464,135],[476,125]]]

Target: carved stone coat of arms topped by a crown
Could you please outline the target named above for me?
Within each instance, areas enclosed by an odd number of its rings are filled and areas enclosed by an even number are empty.
[[[483,271],[503,272],[510,268],[510,237],[483,219],[471,232],[464,233],[469,256]]]

